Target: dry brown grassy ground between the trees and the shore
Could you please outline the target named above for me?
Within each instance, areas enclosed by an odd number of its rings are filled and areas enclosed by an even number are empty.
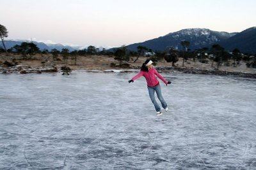
[[[104,56],[104,55],[86,55],[86,56],[77,56],[75,61],[74,57],[68,57],[67,60],[63,60],[63,57],[59,56],[58,60],[53,60],[51,54],[36,54],[32,57],[27,57],[28,59],[23,59],[20,55],[14,55],[13,53],[0,54],[0,65],[3,64],[5,60],[8,62],[15,62],[23,66],[31,67],[42,67],[42,66],[52,66],[55,65],[60,69],[61,66],[69,66],[72,70],[108,70],[108,69],[122,69],[118,67],[113,67],[115,64],[119,64],[118,60],[115,60],[113,56]],[[136,57],[131,57],[131,60],[127,62],[132,66],[140,67],[147,57],[140,57],[136,62],[134,60]],[[179,58],[179,61],[175,64],[177,67],[182,67],[182,58]],[[164,59],[157,62],[157,67],[171,67],[172,63],[166,62]],[[184,67],[188,69],[207,69],[213,70],[217,66],[214,64],[214,67],[211,67],[211,61],[207,64],[201,63],[198,61],[193,61],[191,59],[187,60],[184,63]],[[229,71],[229,72],[243,72],[243,73],[256,73],[256,69],[246,67],[245,62],[241,62],[241,66],[220,66],[220,71]]]

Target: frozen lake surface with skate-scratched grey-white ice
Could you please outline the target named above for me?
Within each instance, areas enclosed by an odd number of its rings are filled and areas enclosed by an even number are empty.
[[[0,74],[0,169],[256,169],[256,80],[135,74]]]

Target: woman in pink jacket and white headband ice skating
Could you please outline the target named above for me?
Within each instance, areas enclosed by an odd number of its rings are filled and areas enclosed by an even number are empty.
[[[147,80],[147,85],[148,85],[148,94],[149,97],[152,101],[152,103],[155,106],[156,109],[156,115],[160,116],[163,113],[161,112],[161,108],[159,106],[159,104],[157,103],[156,99],[155,99],[155,92],[157,94],[157,98],[159,99],[159,101],[161,102],[163,108],[165,111],[168,111],[168,107],[166,102],[164,101],[164,98],[162,96],[161,93],[161,87],[159,84],[159,81],[157,80],[156,76],[158,78],[160,78],[166,85],[172,83],[171,81],[166,81],[163,76],[161,76],[161,74],[159,74],[156,69],[154,69],[153,65],[152,65],[152,60],[146,60],[142,66],[141,66],[141,71],[139,74],[137,74],[136,76],[134,76],[131,80],[129,80],[129,83],[133,83],[134,80],[136,80],[137,78],[139,78],[140,76],[144,76],[145,79]]]

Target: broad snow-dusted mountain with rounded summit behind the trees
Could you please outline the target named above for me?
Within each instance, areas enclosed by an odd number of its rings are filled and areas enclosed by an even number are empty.
[[[143,43],[135,43],[132,45],[128,45],[127,48],[129,50],[137,50],[137,46],[147,46],[147,48],[152,49],[153,51],[163,51],[168,47],[176,48],[177,50],[182,50],[182,46],[180,45],[180,41],[189,41],[189,49],[195,50],[198,48],[211,47],[214,43],[219,43],[224,39],[228,39],[234,36],[234,33],[228,32],[218,32],[211,31],[210,29],[182,29],[177,32],[169,33],[165,36],[161,36],[159,38],[150,39]]]

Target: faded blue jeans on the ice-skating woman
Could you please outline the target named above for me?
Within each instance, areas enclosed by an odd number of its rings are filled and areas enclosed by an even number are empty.
[[[164,101],[164,98],[162,96],[162,92],[161,92],[161,87],[160,85],[157,85],[155,87],[148,87],[148,94],[149,94],[149,97],[152,101],[152,103],[154,104],[155,106],[155,109],[156,111],[161,111],[161,108],[159,106],[159,104],[157,103],[156,99],[155,99],[155,92],[157,94],[157,98],[159,99],[159,101],[161,102],[163,108],[167,108],[167,104],[166,102]]]

